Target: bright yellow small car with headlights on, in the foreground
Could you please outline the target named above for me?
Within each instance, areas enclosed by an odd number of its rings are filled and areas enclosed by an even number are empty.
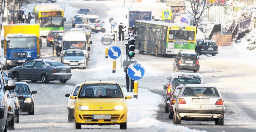
[[[127,103],[121,86],[117,82],[84,82],[75,99],[75,128],[81,125],[120,125],[126,129]]]

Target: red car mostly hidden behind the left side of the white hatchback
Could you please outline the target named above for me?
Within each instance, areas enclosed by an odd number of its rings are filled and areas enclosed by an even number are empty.
[[[178,96],[178,93],[180,92],[182,86],[176,86],[176,88],[174,89],[172,96],[170,97],[170,101],[169,101],[169,119],[173,119],[173,105],[176,102],[176,97]]]

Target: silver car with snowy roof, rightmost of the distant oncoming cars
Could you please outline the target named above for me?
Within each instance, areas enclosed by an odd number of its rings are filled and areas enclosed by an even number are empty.
[[[105,22],[103,22],[99,18],[99,16],[85,15],[85,16],[83,16],[82,23],[89,24],[92,32],[95,32],[95,33],[98,33],[98,32],[105,33],[106,32],[106,27],[104,24]]]

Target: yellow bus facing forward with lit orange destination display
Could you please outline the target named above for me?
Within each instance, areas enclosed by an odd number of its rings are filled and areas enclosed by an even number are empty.
[[[58,5],[41,4],[35,6],[35,23],[40,24],[40,36],[46,37],[50,30],[64,32],[64,10]]]

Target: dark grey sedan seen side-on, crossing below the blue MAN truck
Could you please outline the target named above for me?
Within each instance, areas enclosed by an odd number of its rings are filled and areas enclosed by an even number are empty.
[[[70,67],[52,59],[35,59],[24,63],[21,66],[13,67],[8,75],[18,82],[20,80],[31,80],[32,82],[59,80],[66,83],[72,76]]]

